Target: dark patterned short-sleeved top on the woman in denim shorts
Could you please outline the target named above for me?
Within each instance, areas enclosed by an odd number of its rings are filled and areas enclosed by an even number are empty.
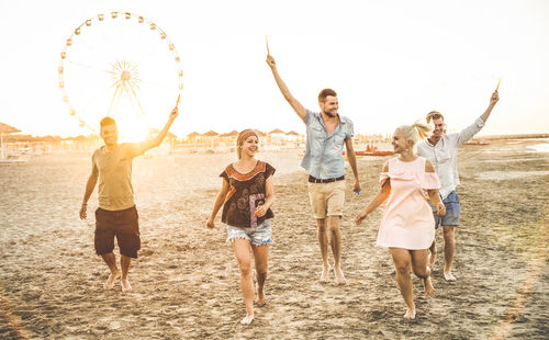
[[[240,173],[228,165],[220,174],[229,185],[221,220],[233,227],[255,228],[272,218],[274,215],[270,208],[261,217],[254,216],[254,212],[265,203],[265,182],[274,171],[271,165],[260,160],[248,173]]]

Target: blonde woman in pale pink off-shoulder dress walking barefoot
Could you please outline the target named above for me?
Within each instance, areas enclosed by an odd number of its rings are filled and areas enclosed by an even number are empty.
[[[437,214],[445,214],[445,206],[438,195],[438,177],[433,165],[414,152],[419,136],[430,132],[428,125],[415,123],[396,128],[393,148],[399,157],[390,159],[380,175],[380,190],[366,209],[356,218],[359,225],[388,197],[381,219],[377,245],[389,248],[396,270],[396,283],[407,310],[404,318],[415,318],[412,271],[421,279],[425,296],[435,295],[428,268],[428,248],[435,238],[433,212],[424,194],[426,190],[437,207]]]

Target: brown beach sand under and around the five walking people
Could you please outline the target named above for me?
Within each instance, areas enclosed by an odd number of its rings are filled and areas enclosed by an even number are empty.
[[[133,291],[104,292],[108,269],[93,251],[93,211],[78,218],[88,154],[46,155],[0,166],[0,338],[2,339],[547,339],[549,333],[549,152],[534,140],[461,147],[455,274],[436,297],[414,277],[417,317],[404,302],[386,249],[377,247],[382,208],[357,227],[388,157],[358,160],[362,192],[347,166],[343,269],[348,284],[320,284],[320,250],[301,150],[259,154],[274,175],[274,243],[267,305],[245,314],[238,268],[220,217],[206,230],[232,154],[141,157],[134,189],[142,231]],[[505,175],[512,173],[513,175]],[[117,247],[115,249],[117,256]],[[333,277],[333,273],[332,273]]]

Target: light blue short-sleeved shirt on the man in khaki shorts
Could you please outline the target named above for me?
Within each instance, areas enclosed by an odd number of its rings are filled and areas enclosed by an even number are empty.
[[[339,124],[327,134],[321,113],[307,110],[303,123],[307,129],[307,145],[301,166],[314,178],[335,179],[345,174],[343,150],[345,140],[354,136],[352,122],[339,116]]]

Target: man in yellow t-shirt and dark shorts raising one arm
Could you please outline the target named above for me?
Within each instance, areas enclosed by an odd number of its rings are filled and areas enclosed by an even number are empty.
[[[111,270],[109,279],[103,284],[105,290],[111,290],[119,277],[122,292],[132,290],[127,272],[132,259],[137,258],[137,250],[141,248],[138,216],[132,188],[132,161],[146,150],[159,146],[177,116],[176,106],[170,113],[168,123],[156,138],[143,143],[119,144],[119,129],[114,120],[104,117],[100,123],[100,135],[104,146],[97,149],[91,157],[92,169],[86,184],[80,218],[87,217],[88,200],[99,179],[94,246],[96,252],[103,258]],[[113,253],[114,237],[120,248],[121,271]]]

